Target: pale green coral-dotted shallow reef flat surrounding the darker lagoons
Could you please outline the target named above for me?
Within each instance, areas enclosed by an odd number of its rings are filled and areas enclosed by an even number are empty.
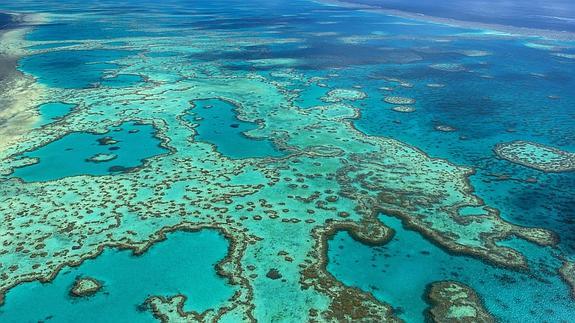
[[[76,47],[106,49],[108,41],[91,40]],[[373,309],[365,319],[393,319],[388,305],[323,272],[326,222],[340,221],[367,237],[385,237],[388,229],[376,220],[385,210],[448,250],[515,267],[524,265],[521,254],[497,241],[511,234],[542,245],[553,240],[545,230],[504,222],[496,212],[462,212],[469,221],[461,221],[461,207],[477,210],[483,204],[472,194],[470,170],[399,141],[357,131],[349,119],[358,116],[355,104],[365,99],[363,92],[326,89],[335,92],[320,106],[299,109],[298,92],[292,88],[317,86],[320,81],[290,69],[298,63],[293,59],[251,61],[257,67],[282,68],[281,78],[274,78],[187,56],[288,40],[197,30],[191,37],[117,41],[131,51],[147,51],[145,57],[131,55],[113,62],[121,74],[139,75],[145,82],[47,88],[47,102],[79,108],[57,123],[32,130],[0,153],[0,194],[5,198],[0,219],[6,233],[0,237],[5,246],[0,263],[13,268],[4,272],[2,291],[30,279],[47,279],[60,266],[94,256],[103,246],[143,250],[166,228],[207,226],[223,230],[231,241],[231,260],[222,271],[232,277],[238,292],[225,306],[206,312],[206,319],[349,319],[353,316],[338,303],[346,297],[362,299],[361,306]],[[162,55],[166,51],[176,54]],[[244,133],[247,138],[265,138],[286,155],[230,157],[200,140],[201,125],[195,128],[186,120],[192,102],[198,100],[233,104],[238,119],[258,125]],[[47,147],[70,133],[104,135],[126,122],[153,126],[168,152],[144,156],[141,167],[130,172],[73,174],[77,176],[42,183],[16,178],[14,170],[26,168],[26,160],[19,158],[22,153]],[[269,278],[272,269],[281,277]],[[302,289],[302,282],[307,288]],[[175,309],[182,302],[156,298],[150,307],[181,321],[182,313]],[[198,313],[188,314],[186,319],[192,320]]]

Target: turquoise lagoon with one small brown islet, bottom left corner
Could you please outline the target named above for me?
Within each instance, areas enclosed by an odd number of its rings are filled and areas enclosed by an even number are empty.
[[[188,297],[185,311],[203,312],[221,306],[233,288],[216,274],[214,265],[228,248],[211,230],[169,233],[140,256],[130,250],[106,249],[78,267],[65,267],[50,283],[24,283],[6,295],[2,322],[154,322],[138,307],[150,296]],[[74,298],[69,291],[77,277],[103,284],[93,296]]]

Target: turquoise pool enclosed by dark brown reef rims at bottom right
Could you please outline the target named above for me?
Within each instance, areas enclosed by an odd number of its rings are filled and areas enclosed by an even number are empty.
[[[339,232],[329,242],[328,270],[343,283],[393,304],[407,322],[424,321],[426,287],[440,280],[472,287],[501,322],[568,322],[575,313],[569,288],[555,275],[560,263],[532,244],[505,244],[530,254],[532,270],[519,273],[450,255],[405,229],[400,220],[385,215],[380,220],[395,230],[389,243],[366,246]]]

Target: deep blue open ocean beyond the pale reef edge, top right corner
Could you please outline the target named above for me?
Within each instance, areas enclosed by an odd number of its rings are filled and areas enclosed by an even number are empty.
[[[575,31],[571,0],[344,0],[384,9],[488,24]]]

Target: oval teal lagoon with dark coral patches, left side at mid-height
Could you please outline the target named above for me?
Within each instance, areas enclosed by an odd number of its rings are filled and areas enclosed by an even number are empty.
[[[38,158],[38,163],[17,168],[12,175],[26,182],[41,182],[68,176],[129,171],[141,166],[144,159],[167,152],[159,145],[154,133],[151,125],[133,122],[113,127],[105,134],[71,133],[24,153],[23,157]],[[101,162],[89,160],[98,154],[115,157]]]

